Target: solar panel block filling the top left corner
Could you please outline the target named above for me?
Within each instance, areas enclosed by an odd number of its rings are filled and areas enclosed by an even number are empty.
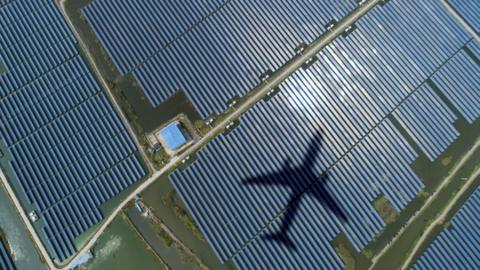
[[[49,2],[18,0],[2,8],[0,50],[10,72],[0,77],[0,97],[74,56],[75,39]]]

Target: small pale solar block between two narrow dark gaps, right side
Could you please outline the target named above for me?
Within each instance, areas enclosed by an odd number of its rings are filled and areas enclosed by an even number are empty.
[[[427,84],[409,97],[393,115],[431,161],[460,135],[453,127],[457,117]]]

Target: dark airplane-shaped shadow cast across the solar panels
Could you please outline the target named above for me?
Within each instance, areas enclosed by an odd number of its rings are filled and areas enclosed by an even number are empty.
[[[314,197],[324,207],[330,209],[330,211],[332,211],[341,222],[347,222],[347,216],[325,188],[325,184],[329,178],[328,174],[324,173],[319,177],[314,171],[315,161],[320,155],[321,145],[322,135],[319,132],[310,141],[308,151],[300,166],[292,166],[291,160],[287,159],[284,161],[281,170],[278,172],[255,176],[242,181],[244,184],[248,185],[276,185],[290,188],[291,195],[287,209],[281,220],[280,229],[274,233],[263,236],[263,238],[279,242],[289,249],[296,249],[293,241],[288,236],[288,231],[295,215],[297,214],[303,196]],[[302,181],[302,183],[298,183],[297,181]],[[297,194],[295,194],[295,191],[299,189],[299,186],[303,186],[304,190],[298,191]]]

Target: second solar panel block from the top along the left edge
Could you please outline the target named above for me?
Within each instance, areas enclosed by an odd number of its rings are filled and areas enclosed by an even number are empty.
[[[5,102],[0,104],[4,116],[0,133],[5,143],[11,145],[98,91],[95,79],[77,56],[5,97]]]

